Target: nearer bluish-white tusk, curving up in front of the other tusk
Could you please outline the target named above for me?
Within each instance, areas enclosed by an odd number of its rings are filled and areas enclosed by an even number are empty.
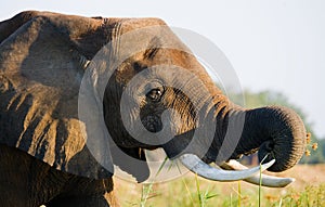
[[[252,177],[255,174],[258,174],[260,172],[260,167],[255,167],[250,169],[245,169],[240,171],[229,171],[223,169],[218,169],[209,166],[208,164],[204,163],[198,158],[196,155],[193,154],[184,154],[180,156],[179,158],[182,164],[188,168],[194,173],[197,173],[200,177],[204,177],[209,180],[214,181],[236,181],[236,180],[243,180],[247,179],[249,177]],[[269,167],[271,167],[274,164],[274,159],[263,164],[261,166],[261,170],[264,171]]]

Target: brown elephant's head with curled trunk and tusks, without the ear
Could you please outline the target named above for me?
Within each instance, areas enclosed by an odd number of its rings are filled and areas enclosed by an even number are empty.
[[[170,158],[180,157],[208,179],[247,179],[256,184],[251,173],[258,168],[245,171],[233,159],[258,152],[260,160],[271,161],[265,168],[275,159],[270,171],[284,171],[299,161],[306,129],[294,111],[233,104],[171,29],[161,21],[153,22],[146,21],[145,27],[123,23],[118,41],[112,41],[118,42],[120,56],[115,56],[108,83],[103,81],[103,112],[118,146],[162,147]],[[107,56],[107,51],[98,54]],[[126,139],[120,140],[121,133]],[[210,163],[242,171],[211,169]],[[265,177],[263,184],[283,186],[291,181]]]

